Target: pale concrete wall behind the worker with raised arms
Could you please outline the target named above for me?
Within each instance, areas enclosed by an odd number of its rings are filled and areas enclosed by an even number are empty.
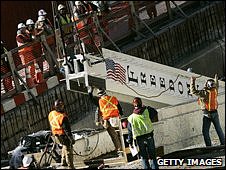
[[[225,133],[225,93],[218,97],[219,119]],[[197,101],[159,109],[159,122],[154,123],[156,146],[164,146],[164,154],[204,144],[202,111]],[[213,124],[210,128],[212,143],[219,143]]]

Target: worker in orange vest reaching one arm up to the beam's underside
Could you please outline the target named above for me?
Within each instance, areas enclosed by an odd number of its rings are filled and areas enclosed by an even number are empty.
[[[121,156],[122,145],[119,135],[115,131],[115,127],[117,127],[117,121],[120,121],[120,116],[123,115],[122,107],[117,98],[115,96],[107,95],[104,89],[100,88],[97,90],[98,99],[93,97],[92,91],[93,88],[90,87],[88,90],[89,96],[92,102],[98,107],[98,111],[96,112],[98,115],[96,117],[99,122],[96,122],[96,125],[101,124],[107,130],[115,146],[115,151]],[[114,121],[116,123],[115,125],[112,124]]]

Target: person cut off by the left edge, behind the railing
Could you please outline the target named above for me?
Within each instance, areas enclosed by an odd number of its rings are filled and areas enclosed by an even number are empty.
[[[5,54],[6,52],[7,52],[7,49],[4,47],[3,41],[1,41],[1,55]],[[10,72],[8,58],[7,56],[1,57],[1,74],[4,75],[8,72]],[[5,92],[8,92],[13,89],[12,76],[7,76],[3,78],[2,83],[3,83]]]

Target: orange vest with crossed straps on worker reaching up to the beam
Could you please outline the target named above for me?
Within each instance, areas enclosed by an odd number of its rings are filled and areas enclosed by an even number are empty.
[[[104,120],[119,116],[117,105],[118,100],[114,96],[103,96],[99,99],[100,111]]]

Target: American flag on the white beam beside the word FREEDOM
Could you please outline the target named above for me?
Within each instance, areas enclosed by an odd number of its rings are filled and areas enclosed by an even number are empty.
[[[126,70],[118,63],[111,59],[106,59],[107,78],[119,81],[121,84],[126,83]]]

